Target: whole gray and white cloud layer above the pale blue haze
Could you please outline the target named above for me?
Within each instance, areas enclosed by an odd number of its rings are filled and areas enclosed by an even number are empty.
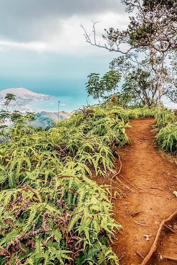
[[[91,32],[91,19],[101,21],[99,41],[104,28],[124,29],[129,21],[119,0],[0,0],[0,10],[0,52],[101,53],[86,43],[79,24]]]

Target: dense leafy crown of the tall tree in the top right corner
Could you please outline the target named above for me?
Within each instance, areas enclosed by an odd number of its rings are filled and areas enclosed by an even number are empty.
[[[176,0],[122,0],[130,17],[127,36],[131,46],[167,52],[177,48]]]

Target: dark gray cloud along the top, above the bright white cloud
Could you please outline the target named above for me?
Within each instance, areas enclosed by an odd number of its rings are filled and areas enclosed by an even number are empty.
[[[74,15],[92,19],[96,13],[123,11],[118,0],[1,0],[0,3],[0,39],[22,42],[46,39],[47,34],[60,31],[63,20]]]

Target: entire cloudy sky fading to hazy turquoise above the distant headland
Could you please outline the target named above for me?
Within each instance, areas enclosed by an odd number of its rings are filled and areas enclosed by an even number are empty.
[[[84,95],[86,77],[104,74],[118,54],[86,43],[81,23],[98,40],[104,28],[126,28],[119,0],[1,0],[0,90],[26,87],[54,95]]]

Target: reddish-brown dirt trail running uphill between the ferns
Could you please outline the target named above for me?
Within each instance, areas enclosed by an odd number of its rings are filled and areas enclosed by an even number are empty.
[[[153,123],[153,118],[131,120],[132,128],[127,129],[131,143],[119,149],[122,161],[120,174],[137,190],[130,192],[119,183],[118,187],[124,196],[121,196],[121,199],[119,196],[112,199],[116,221],[124,227],[124,231],[121,230],[116,235],[112,245],[122,265],[140,264],[143,259],[136,251],[146,256],[161,221],[177,211],[177,199],[173,195],[173,191],[177,190],[177,172],[155,149],[155,135],[151,131]],[[119,166],[117,160],[117,172]],[[127,183],[121,175],[118,176],[119,180],[135,191],[135,187]],[[115,187],[116,183],[112,183],[112,186]],[[130,214],[138,211],[142,212],[131,218]],[[161,254],[177,257],[177,220],[171,223],[171,226],[176,230],[176,234],[163,229],[158,249],[148,264],[177,264],[177,261],[160,260]],[[144,235],[150,235],[148,241]]]

